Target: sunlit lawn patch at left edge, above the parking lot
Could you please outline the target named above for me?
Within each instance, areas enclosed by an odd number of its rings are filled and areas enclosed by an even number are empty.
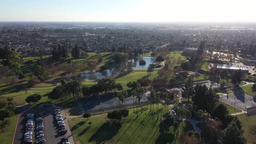
[[[0,99],[7,100],[7,98],[13,98],[15,105],[24,105],[26,103],[25,99],[31,94],[25,92],[13,92],[7,95],[1,95]]]

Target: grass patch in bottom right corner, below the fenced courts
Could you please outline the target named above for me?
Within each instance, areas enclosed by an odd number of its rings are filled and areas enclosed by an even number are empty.
[[[247,144],[253,144],[256,141],[256,135],[250,133],[251,125],[256,125],[256,117],[252,115],[242,114],[236,115],[243,125],[243,135],[247,138]]]

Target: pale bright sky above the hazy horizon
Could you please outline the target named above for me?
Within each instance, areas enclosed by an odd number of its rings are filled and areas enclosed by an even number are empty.
[[[0,21],[256,22],[256,0],[0,0]]]

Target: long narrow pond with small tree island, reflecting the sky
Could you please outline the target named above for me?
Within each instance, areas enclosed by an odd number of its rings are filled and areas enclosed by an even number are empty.
[[[140,60],[144,60],[146,62],[146,64],[140,65],[139,64]],[[148,69],[148,66],[154,62],[155,62],[154,57],[138,56],[134,59],[129,60],[128,62],[123,62],[123,63],[115,66],[114,68],[106,69],[106,70],[104,70],[105,72],[95,72],[92,74],[86,73],[85,75],[81,74],[81,77],[84,79],[89,79],[89,80],[102,79],[109,75],[115,75],[118,72],[121,72],[122,70],[125,70],[125,69],[131,69],[131,68],[132,69]],[[105,73],[105,75],[103,75],[104,73]]]

